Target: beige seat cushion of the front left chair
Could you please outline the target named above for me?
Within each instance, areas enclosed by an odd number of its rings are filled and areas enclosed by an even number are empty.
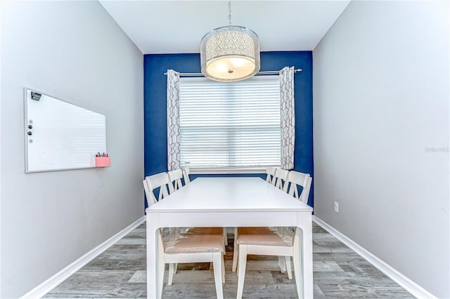
[[[195,227],[179,236],[165,236],[163,241],[165,253],[225,251],[221,227]]]

